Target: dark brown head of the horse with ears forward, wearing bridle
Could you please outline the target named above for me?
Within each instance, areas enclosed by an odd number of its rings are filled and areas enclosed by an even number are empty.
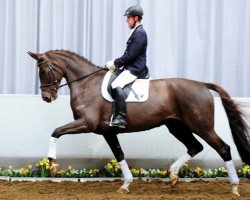
[[[46,53],[38,54],[28,52],[28,54],[37,60],[43,100],[48,103],[56,100],[60,82],[63,77],[62,69],[58,66],[56,60],[48,58]]]

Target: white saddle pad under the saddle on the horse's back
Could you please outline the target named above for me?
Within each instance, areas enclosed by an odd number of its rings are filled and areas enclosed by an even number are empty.
[[[102,82],[102,96],[107,101],[113,102],[114,99],[108,93],[107,87],[109,79],[112,75],[112,70],[109,70]],[[136,93],[130,91],[126,99],[126,102],[144,102],[148,99],[148,90],[149,90],[149,81],[150,79],[136,79],[132,84],[132,89]]]

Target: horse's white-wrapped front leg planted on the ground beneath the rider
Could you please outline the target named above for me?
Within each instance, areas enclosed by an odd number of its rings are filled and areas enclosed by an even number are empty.
[[[118,190],[118,192],[129,192],[128,187],[131,182],[133,182],[133,175],[129,170],[128,164],[124,159],[124,153],[121,149],[120,143],[118,141],[117,135],[114,133],[106,133],[103,134],[106,142],[108,143],[109,147],[111,148],[116,160],[119,162],[121,166],[121,171],[124,177],[124,183]]]

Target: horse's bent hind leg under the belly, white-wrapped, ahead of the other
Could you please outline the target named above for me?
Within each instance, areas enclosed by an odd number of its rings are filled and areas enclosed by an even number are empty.
[[[194,137],[187,126],[177,120],[170,120],[166,123],[170,133],[187,147],[187,153],[182,155],[170,166],[170,181],[174,187],[178,182],[180,168],[192,157],[203,150],[202,144]]]

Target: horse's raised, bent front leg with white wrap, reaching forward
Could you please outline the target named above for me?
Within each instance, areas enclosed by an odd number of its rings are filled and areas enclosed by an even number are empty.
[[[58,138],[66,134],[79,134],[87,132],[91,132],[91,128],[85,123],[84,119],[78,119],[54,130],[49,140],[48,150],[51,176],[55,176],[59,168],[59,165],[56,164],[56,146]]]

